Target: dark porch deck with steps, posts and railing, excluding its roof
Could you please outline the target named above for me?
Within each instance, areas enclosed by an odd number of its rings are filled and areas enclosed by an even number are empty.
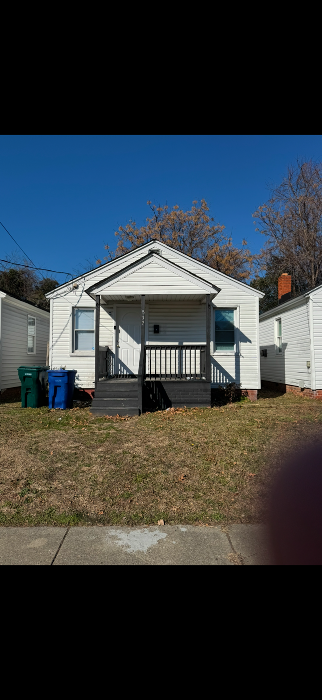
[[[145,295],[141,295],[140,360],[138,372],[129,367],[110,347],[99,344],[101,299],[96,295],[95,396],[96,415],[140,415],[170,407],[210,406],[210,313],[206,298],[203,344],[146,344]],[[117,347],[119,343],[117,341]]]

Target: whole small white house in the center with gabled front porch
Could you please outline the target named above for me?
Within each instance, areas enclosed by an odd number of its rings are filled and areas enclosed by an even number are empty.
[[[261,387],[263,293],[159,241],[47,294],[50,366],[77,370],[93,412],[210,405],[210,388]]]

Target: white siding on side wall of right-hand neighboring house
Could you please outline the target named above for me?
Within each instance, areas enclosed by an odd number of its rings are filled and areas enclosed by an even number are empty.
[[[277,318],[281,318],[283,352],[280,354],[275,345]],[[261,357],[261,379],[291,386],[304,381],[305,388],[312,388],[312,374],[307,368],[307,361],[311,360],[309,298],[291,308],[281,306],[267,311],[259,321],[261,349],[268,353],[267,357]]]

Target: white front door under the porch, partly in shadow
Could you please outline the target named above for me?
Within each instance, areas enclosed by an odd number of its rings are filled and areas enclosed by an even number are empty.
[[[117,372],[138,374],[141,350],[140,309],[117,309]]]

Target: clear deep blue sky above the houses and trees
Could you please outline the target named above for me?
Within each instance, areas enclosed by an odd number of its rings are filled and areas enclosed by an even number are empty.
[[[75,273],[116,246],[118,224],[142,224],[147,199],[212,216],[252,252],[251,213],[297,156],[322,160],[321,135],[1,136],[0,221],[39,267]],[[15,251],[0,230],[0,258]],[[64,276],[56,275],[62,282]]]

